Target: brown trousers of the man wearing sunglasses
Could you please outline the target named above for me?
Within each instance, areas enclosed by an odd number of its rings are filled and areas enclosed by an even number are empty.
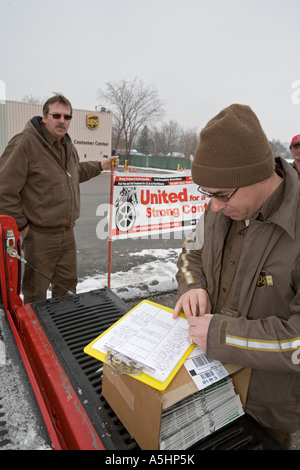
[[[63,288],[75,293],[77,285],[76,243],[73,228],[39,232],[30,227],[23,242],[24,257],[28,264]],[[22,282],[24,304],[45,300],[50,281],[25,265]],[[52,297],[67,292],[52,284]]]

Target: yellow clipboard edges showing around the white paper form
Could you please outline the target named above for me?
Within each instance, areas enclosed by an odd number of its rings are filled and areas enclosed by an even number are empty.
[[[151,302],[149,300],[143,300],[142,302],[140,302],[139,304],[137,304],[133,309],[131,309],[129,312],[127,312],[123,317],[121,317],[117,322],[115,322],[113,325],[111,325],[106,331],[104,331],[100,336],[98,336],[96,339],[94,339],[90,344],[88,344],[85,348],[84,348],[84,352],[86,354],[88,354],[89,356],[92,356],[94,357],[95,359],[98,359],[99,361],[101,362],[104,362],[105,364],[109,364],[109,365],[112,365],[109,361],[109,352],[110,351],[106,351],[105,353],[104,352],[101,352],[97,349],[95,349],[93,346],[95,345],[95,343],[97,343],[100,339],[103,339],[103,337],[110,331],[112,330],[118,323],[120,323],[125,317],[127,317],[127,315],[130,315],[135,309],[137,309],[138,307],[140,307],[143,303],[147,303],[147,304],[150,304],[150,305],[153,305],[155,307],[158,307],[159,309],[161,310],[165,310],[167,312],[169,312],[170,314],[173,313],[173,310],[168,308],[168,307],[165,307],[163,305],[160,305],[160,304],[157,304],[155,302]],[[179,314],[181,317],[183,318],[186,318],[185,315],[183,313],[180,313]],[[183,354],[183,356],[181,357],[181,359],[179,360],[179,362],[176,364],[176,366],[174,367],[174,369],[172,370],[172,372],[168,375],[168,377],[166,378],[166,380],[164,382],[160,382],[159,380],[151,377],[151,375],[149,375],[149,373],[147,374],[146,372],[141,372],[139,375],[134,375],[134,374],[130,374],[130,369],[128,369],[126,372],[123,372],[123,373],[126,373],[127,375],[130,375],[131,377],[135,378],[136,380],[139,380],[141,382],[144,382],[145,384],[147,385],[150,385],[150,387],[153,387],[157,390],[165,390],[168,385],[171,383],[171,381],[173,380],[173,378],[175,377],[175,375],[177,374],[177,372],[179,371],[180,367],[183,365],[184,361],[186,360],[186,358],[189,356],[189,354],[191,353],[191,351],[193,350],[193,348],[195,347],[194,344],[192,344],[188,349],[187,351]],[[108,354],[107,354],[108,353]],[[143,364],[142,364],[143,366]],[[147,367],[144,367],[145,370],[147,370]]]

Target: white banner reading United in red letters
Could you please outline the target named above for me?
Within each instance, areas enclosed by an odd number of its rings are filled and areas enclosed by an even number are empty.
[[[191,176],[114,176],[111,239],[136,238],[195,227],[208,199]]]

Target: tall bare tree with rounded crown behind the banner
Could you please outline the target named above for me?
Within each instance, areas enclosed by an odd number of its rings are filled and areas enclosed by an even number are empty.
[[[99,91],[101,105],[106,105],[113,115],[113,147],[118,148],[124,138],[126,157],[129,159],[134,138],[141,126],[162,118],[164,111],[157,90],[145,87],[135,78],[129,82],[107,82],[106,91]]]

